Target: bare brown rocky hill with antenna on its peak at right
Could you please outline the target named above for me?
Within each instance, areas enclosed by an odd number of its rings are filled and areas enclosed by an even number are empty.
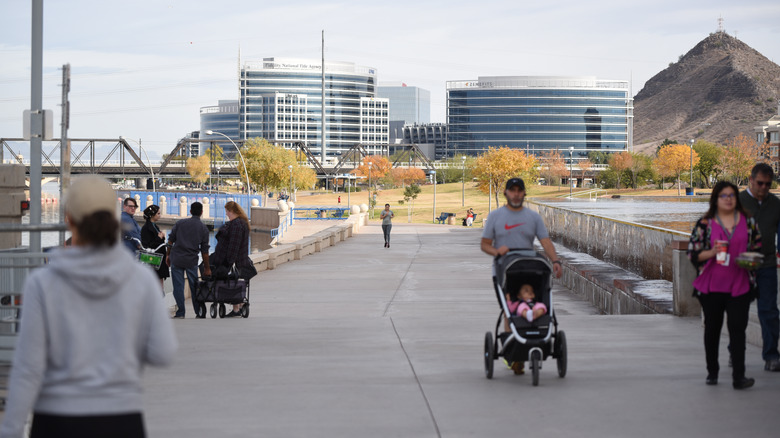
[[[780,66],[728,35],[705,38],[634,98],[634,149],[666,138],[726,143],[778,113]]]

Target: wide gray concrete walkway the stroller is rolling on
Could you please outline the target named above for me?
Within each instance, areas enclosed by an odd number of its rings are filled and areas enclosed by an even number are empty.
[[[704,384],[697,318],[603,316],[556,287],[569,367],[540,385],[482,349],[498,306],[479,229],[379,225],[252,282],[248,319],[174,321],[177,363],[148,369],[150,437],[775,436],[780,373]]]

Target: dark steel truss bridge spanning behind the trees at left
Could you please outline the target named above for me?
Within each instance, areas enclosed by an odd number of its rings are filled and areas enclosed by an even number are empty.
[[[182,152],[186,151],[187,146],[192,143],[207,143],[210,146],[225,144],[224,140],[201,140],[196,138],[182,138],[176,146],[166,156],[166,158],[157,164],[146,162],[141,158],[141,147],[139,151],[127,143],[124,138],[119,139],[85,139],[71,138],[70,143],[70,173],[72,175],[80,174],[101,174],[109,178],[145,178],[154,175],[156,178],[188,178],[186,168],[186,155],[182,157]],[[21,138],[0,138],[0,162],[11,161],[22,164],[26,167],[27,175],[30,174],[30,164],[25,163],[24,158],[13,150],[13,144],[29,143],[28,140]],[[235,142],[241,148],[243,140]],[[282,144],[282,142],[271,142],[272,144]],[[284,142],[290,144],[290,142]],[[357,168],[363,158],[369,156],[368,145],[355,144],[348,150],[343,151],[335,164],[325,164],[320,162],[317,155],[313,154],[308,145],[304,142],[292,142],[291,149],[295,151],[299,163],[306,163],[314,169],[318,178],[331,179],[341,175],[349,170]],[[370,145],[372,149],[377,147],[380,155],[389,155],[390,145]],[[416,144],[393,145],[396,150],[402,149],[401,154],[393,162],[393,167],[420,167],[426,173],[434,170],[433,163],[423,154]],[[60,140],[44,141],[41,150],[41,174],[44,177],[55,177],[60,174]],[[106,152],[108,150],[108,152]],[[8,155],[8,158],[6,157]],[[212,160],[212,170],[217,170],[221,176],[226,178],[242,178],[238,171],[237,160],[225,160],[215,162]],[[152,173],[153,171],[153,173]],[[214,174],[215,172],[211,172]]]

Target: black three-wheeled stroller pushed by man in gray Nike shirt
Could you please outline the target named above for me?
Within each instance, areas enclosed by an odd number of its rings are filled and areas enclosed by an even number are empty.
[[[537,300],[547,306],[547,313],[529,322],[512,315],[505,293],[517,299],[520,286],[533,286]],[[496,322],[495,339],[491,332],[485,334],[485,376],[493,378],[493,362],[503,357],[508,363],[528,361],[533,373],[533,385],[539,385],[542,361],[552,356],[558,362],[558,375],[566,376],[566,335],[558,330],[552,299],[552,266],[534,251],[510,251],[497,257],[493,264],[493,286],[501,313]],[[509,331],[504,332],[503,318],[507,318]],[[499,332],[499,330],[502,332]]]

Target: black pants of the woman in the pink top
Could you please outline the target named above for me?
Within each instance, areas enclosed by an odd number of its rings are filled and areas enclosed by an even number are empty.
[[[699,296],[704,310],[704,352],[707,357],[707,373],[718,375],[718,348],[723,328],[723,314],[728,316],[729,349],[733,379],[745,377],[745,330],[750,311],[750,294],[732,297],[730,293],[710,292]]]

